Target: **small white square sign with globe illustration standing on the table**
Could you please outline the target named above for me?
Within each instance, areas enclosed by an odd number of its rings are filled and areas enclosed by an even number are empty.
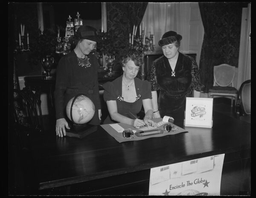
[[[213,98],[186,98],[185,126],[212,128]]]

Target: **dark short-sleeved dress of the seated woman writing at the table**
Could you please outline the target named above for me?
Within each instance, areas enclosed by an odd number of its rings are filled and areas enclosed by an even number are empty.
[[[117,112],[128,118],[135,119],[133,115],[139,117],[140,110],[142,108],[142,100],[151,99],[151,86],[147,80],[140,80],[139,78],[134,78],[134,85],[136,89],[136,100],[133,103],[129,103],[122,98],[122,76],[116,78],[112,82],[107,82],[103,84],[104,94],[103,98],[105,101],[116,100]],[[131,113],[130,113],[131,112]],[[110,115],[103,122],[104,124],[116,123],[110,118]]]

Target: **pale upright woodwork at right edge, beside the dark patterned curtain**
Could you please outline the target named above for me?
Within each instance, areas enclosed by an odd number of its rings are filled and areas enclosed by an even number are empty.
[[[245,80],[251,79],[251,4],[242,10],[241,41],[239,51],[238,75],[236,89],[239,89]]]

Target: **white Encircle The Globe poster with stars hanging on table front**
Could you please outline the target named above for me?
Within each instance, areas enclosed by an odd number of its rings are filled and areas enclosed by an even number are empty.
[[[224,155],[152,168],[149,195],[220,195]]]

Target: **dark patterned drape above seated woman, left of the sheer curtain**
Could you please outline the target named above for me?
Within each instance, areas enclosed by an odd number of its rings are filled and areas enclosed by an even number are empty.
[[[132,34],[133,26],[140,29],[140,23],[143,19],[148,3],[107,3],[107,29],[114,31],[118,36],[115,43],[118,54],[114,61],[114,71],[122,71],[120,60],[129,49],[129,33]]]

